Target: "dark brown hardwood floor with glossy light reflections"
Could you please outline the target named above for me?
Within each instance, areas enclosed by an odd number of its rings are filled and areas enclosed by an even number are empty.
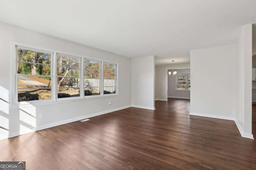
[[[252,170],[256,143],[234,121],[190,116],[190,101],[156,101],[0,141],[1,161],[27,170]]]

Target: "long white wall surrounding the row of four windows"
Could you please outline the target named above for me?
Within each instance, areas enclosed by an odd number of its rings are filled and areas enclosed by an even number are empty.
[[[108,53],[70,41],[50,37],[12,25],[0,23],[0,123],[5,129],[0,128],[0,139],[27,133],[29,131],[43,129],[54,125],[76,121],[85,117],[91,117],[107,113],[116,109],[129,107],[131,105],[131,59],[114,53]],[[14,63],[11,61],[11,41],[25,43],[37,47],[53,49],[65,53],[72,53],[79,56],[91,57],[99,60],[106,60],[119,63],[119,95],[98,98],[94,100],[78,100],[67,103],[48,103],[49,105],[31,105],[26,108],[9,109],[10,98],[10,70]],[[5,73],[5,74],[2,74]],[[150,74],[153,74],[152,71]],[[12,98],[12,96],[10,96]],[[5,102],[5,101],[6,102]],[[112,102],[108,106],[108,102]],[[13,107],[12,107],[13,108]],[[27,117],[30,125],[21,119],[22,110],[34,117]],[[39,114],[44,113],[44,118],[39,119]],[[0,126],[1,126],[0,125]],[[36,126],[36,127],[33,127]]]

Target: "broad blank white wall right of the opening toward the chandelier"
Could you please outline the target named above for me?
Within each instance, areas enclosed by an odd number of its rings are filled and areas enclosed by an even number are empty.
[[[190,115],[234,120],[237,45],[190,51]]]

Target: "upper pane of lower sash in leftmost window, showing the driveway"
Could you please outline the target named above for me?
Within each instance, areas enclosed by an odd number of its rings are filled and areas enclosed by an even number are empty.
[[[18,88],[48,88],[51,86],[50,77],[18,76]]]

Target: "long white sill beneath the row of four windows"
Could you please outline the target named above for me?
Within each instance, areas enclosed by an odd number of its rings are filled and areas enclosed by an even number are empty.
[[[16,104],[10,105],[10,109],[18,109],[18,108],[25,108],[25,107],[36,107],[36,106],[47,106],[52,104],[64,104],[64,103],[71,103],[71,102],[82,102],[87,100],[97,100],[97,99],[104,99],[104,98],[113,98],[117,97],[118,94],[105,94],[104,96],[95,96],[95,97],[87,97],[87,98],[76,98],[76,99],[67,99],[58,100],[58,101],[40,101],[40,102],[26,102],[26,104]]]

